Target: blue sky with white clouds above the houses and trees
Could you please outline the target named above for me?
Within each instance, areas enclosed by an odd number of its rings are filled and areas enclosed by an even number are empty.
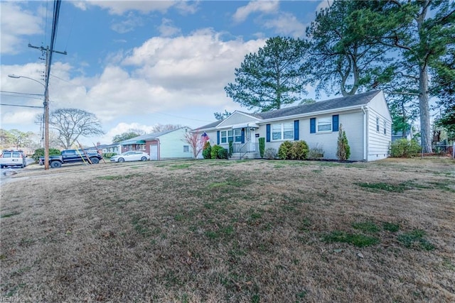
[[[327,1],[62,1],[50,76],[50,110],[96,114],[113,136],[156,124],[196,128],[240,107],[224,87],[247,53],[276,35],[303,38]],[[11,93],[43,93],[41,52],[50,44],[53,1],[1,1],[1,103],[42,106]],[[314,90],[309,96],[314,98]],[[41,109],[1,106],[1,128],[40,132]]]

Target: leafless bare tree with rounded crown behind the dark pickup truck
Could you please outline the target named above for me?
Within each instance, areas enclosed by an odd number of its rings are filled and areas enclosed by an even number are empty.
[[[63,148],[70,148],[80,136],[104,134],[97,116],[82,109],[56,109],[49,115],[49,125],[58,132]]]

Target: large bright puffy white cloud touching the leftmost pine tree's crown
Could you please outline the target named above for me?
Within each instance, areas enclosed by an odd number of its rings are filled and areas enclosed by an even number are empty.
[[[168,91],[223,92],[245,55],[264,43],[263,39],[223,41],[220,33],[204,29],[173,39],[151,38],[134,48],[123,65],[138,67],[135,77]]]

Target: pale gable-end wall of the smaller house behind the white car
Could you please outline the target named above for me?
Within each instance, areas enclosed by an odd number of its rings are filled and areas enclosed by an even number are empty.
[[[193,158],[191,147],[188,152],[183,152],[183,145],[189,145],[185,142],[185,133],[190,131],[189,128],[180,128],[171,133],[159,136],[159,155],[160,160],[171,158]]]

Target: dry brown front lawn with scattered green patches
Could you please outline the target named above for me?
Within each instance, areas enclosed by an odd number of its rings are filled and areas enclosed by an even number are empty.
[[[14,181],[3,297],[455,302],[448,159],[101,163]]]

